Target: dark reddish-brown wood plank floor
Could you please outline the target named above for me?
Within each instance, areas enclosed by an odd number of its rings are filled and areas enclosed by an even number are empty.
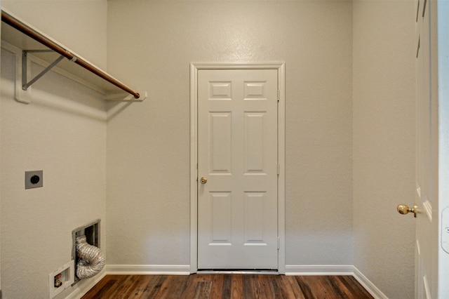
[[[106,275],[81,299],[373,298],[351,276],[241,274]]]

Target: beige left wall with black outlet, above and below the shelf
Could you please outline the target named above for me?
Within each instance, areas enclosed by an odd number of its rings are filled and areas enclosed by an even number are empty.
[[[86,24],[79,20],[95,23],[90,20],[94,18],[92,14],[84,14],[83,5],[93,8],[89,5],[92,1],[77,2],[78,6],[72,6],[74,1],[2,1],[2,4],[36,27],[47,25],[46,33],[50,36],[65,32],[58,37],[70,38],[72,43],[79,43],[76,45],[92,46],[84,42],[90,43],[93,35],[100,35],[104,45],[82,55],[101,64],[102,60],[105,62],[106,51],[103,37],[106,1],[102,3],[102,16],[95,11],[95,18],[101,19],[102,26],[91,30],[86,30],[83,27]],[[67,21],[72,24],[67,25]],[[33,74],[39,69],[33,65]],[[32,86],[32,103],[22,104],[13,97],[14,75],[15,59],[2,50],[1,291],[6,299],[48,298],[48,274],[72,260],[72,230],[101,218],[102,248],[106,247],[106,106],[98,100],[97,93],[53,72]],[[43,170],[43,187],[25,190],[25,171],[37,169]],[[86,288],[89,281],[92,280],[76,284],[58,298],[65,298],[77,288]]]

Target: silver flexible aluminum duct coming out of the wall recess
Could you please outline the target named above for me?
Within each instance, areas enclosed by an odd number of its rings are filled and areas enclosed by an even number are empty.
[[[79,279],[93,277],[105,267],[106,258],[100,248],[87,243],[86,236],[76,237],[76,276]]]

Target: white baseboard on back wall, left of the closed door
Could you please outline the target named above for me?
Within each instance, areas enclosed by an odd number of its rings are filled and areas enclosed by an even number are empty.
[[[107,274],[189,275],[189,265],[106,265]]]

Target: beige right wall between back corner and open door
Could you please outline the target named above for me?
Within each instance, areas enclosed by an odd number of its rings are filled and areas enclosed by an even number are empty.
[[[391,299],[414,297],[414,6],[354,1],[354,265]]]

